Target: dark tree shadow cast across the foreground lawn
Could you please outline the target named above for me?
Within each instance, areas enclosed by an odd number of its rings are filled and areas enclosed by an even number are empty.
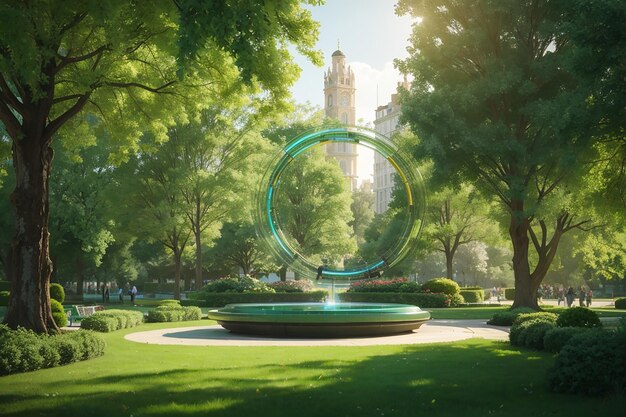
[[[310,348],[316,349],[316,348]],[[223,362],[202,369],[130,372],[82,381],[67,398],[0,395],[3,416],[588,416],[623,411],[623,398],[552,394],[552,358],[507,343],[332,350],[327,360]],[[358,348],[356,348],[358,349]],[[203,352],[215,352],[211,349]],[[223,351],[228,352],[228,351]],[[259,350],[259,352],[267,352]],[[285,355],[290,350],[283,349]],[[329,350],[320,350],[328,353]],[[2,410],[2,407],[0,407]]]

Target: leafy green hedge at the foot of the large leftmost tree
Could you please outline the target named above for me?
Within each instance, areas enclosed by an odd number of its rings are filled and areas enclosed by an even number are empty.
[[[104,354],[105,347],[104,340],[89,331],[48,336],[0,324],[0,375],[96,358]]]

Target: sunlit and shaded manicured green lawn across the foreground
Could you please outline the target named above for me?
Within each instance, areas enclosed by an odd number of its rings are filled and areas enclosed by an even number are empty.
[[[104,334],[106,354],[0,378],[2,416],[586,416],[626,399],[550,393],[551,355],[508,343],[194,347]]]

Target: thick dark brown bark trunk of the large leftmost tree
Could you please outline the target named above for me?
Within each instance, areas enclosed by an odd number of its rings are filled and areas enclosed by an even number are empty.
[[[52,148],[38,135],[13,143],[15,190],[11,203],[15,234],[11,242],[11,298],[5,323],[37,333],[58,332],[50,310],[48,193]]]

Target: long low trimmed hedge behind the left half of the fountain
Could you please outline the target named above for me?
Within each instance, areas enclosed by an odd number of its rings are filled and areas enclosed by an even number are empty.
[[[328,293],[326,291],[312,291],[303,293],[199,293],[196,297],[202,299],[181,300],[183,306],[197,307],[224,307],[234,303],[314,303],[323,302]]]

